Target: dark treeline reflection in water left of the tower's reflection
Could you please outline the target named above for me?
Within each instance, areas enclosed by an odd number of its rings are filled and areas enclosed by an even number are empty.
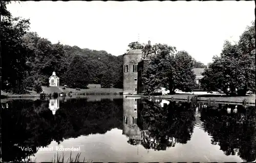
[[[36,147],[46,147],[53,140],[59,144],[63,139],[122,127],[122,99],[70,99],[59,105],[53,115],[48,101],[9,101],[1,113],[2,160],[22,161],[36,153]]]

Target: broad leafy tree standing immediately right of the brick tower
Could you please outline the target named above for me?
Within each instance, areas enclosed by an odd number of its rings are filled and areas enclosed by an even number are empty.
[[[195,87],[193,58],[186,51],[175,53],[176,48],[166,44],[156,44],[151,51],[155,55],[150,57],[151,62],[142,75],[146,94],[160,87],[169,88],[171,93],[175,89],[189,92]]]

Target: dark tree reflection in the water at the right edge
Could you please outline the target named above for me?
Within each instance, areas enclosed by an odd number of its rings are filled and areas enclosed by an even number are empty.
[[[224,106],[225,108],[225,106]],[[219,145],[226,155],[239,155],[246,161],[255,160],[255,108],[226,106],[227,110],[204,109],[201,120],[212,136],[211,144]],[[238,110],[233,112],[232,110]],[[230,113],[229,113],[230,112]]]

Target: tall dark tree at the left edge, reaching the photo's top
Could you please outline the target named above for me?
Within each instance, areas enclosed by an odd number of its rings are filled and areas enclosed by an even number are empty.
[[[1,1],[1,86],[4,91],[25,93],[26,61],[30,55],[22,37],[29,29],[29,20],[12,17]]]

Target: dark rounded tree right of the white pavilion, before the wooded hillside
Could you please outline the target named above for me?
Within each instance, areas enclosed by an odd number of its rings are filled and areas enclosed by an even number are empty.
[[[87,88],[89,84],[89,71],[86,61],[81,56],[75,56],[66,73],[66,83],[72,88]]]

